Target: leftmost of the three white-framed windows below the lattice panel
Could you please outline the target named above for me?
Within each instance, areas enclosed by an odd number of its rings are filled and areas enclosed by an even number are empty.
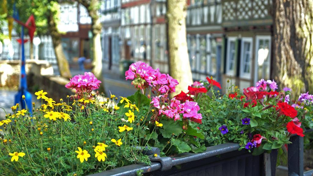
[[[226,56],[226,74],[235,74],[236,64],[236,38],[229,37],[227,42],[227,56]]]

